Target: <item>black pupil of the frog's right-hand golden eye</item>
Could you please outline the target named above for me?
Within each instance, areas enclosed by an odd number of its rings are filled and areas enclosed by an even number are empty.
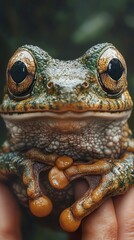
[[[119,80],[122,76],[122,73],[124,71],[124,68],[122,66],[122,63],[117,59],[113,58],[107,67],[107,73],[113,80]]]

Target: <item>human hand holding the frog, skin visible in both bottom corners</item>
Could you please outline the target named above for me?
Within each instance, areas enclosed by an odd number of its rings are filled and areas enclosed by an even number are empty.
[[[87,186],[82,181],[75,186],[80,197]],[[10,190],[0,183],[0,240],[21,240],[21,218],[17,202]],[[81,231],[81,233],[80,233]],[[109,199],[83,220],[81,229],[70,240],[133,240],[134,188],[122,196]]]

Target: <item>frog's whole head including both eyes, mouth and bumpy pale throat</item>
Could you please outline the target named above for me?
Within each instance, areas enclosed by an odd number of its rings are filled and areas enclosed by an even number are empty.
[[[122,151],[132,105],[126,63],[112,44],[98,44],[71,61],[25,45],[9,60],[0,112],[13,150],[100,158]]]

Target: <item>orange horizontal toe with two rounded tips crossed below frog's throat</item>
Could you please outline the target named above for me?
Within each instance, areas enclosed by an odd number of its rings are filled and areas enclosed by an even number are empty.
[[[65,162],[64,162],[65,159]],[[85,175],[98,175],[109,172],[112,165],[106,160],[99,160],[95,163],[75,163],[69,157],[59,157],[56,166],[49,172],[49,182],[57,189],[65,188],[74,179]]]

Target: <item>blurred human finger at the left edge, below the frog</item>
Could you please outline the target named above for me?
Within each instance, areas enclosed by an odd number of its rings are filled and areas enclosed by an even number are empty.
[[[20,240],[20,211],[9,189],[0,183],[0,240]]]

